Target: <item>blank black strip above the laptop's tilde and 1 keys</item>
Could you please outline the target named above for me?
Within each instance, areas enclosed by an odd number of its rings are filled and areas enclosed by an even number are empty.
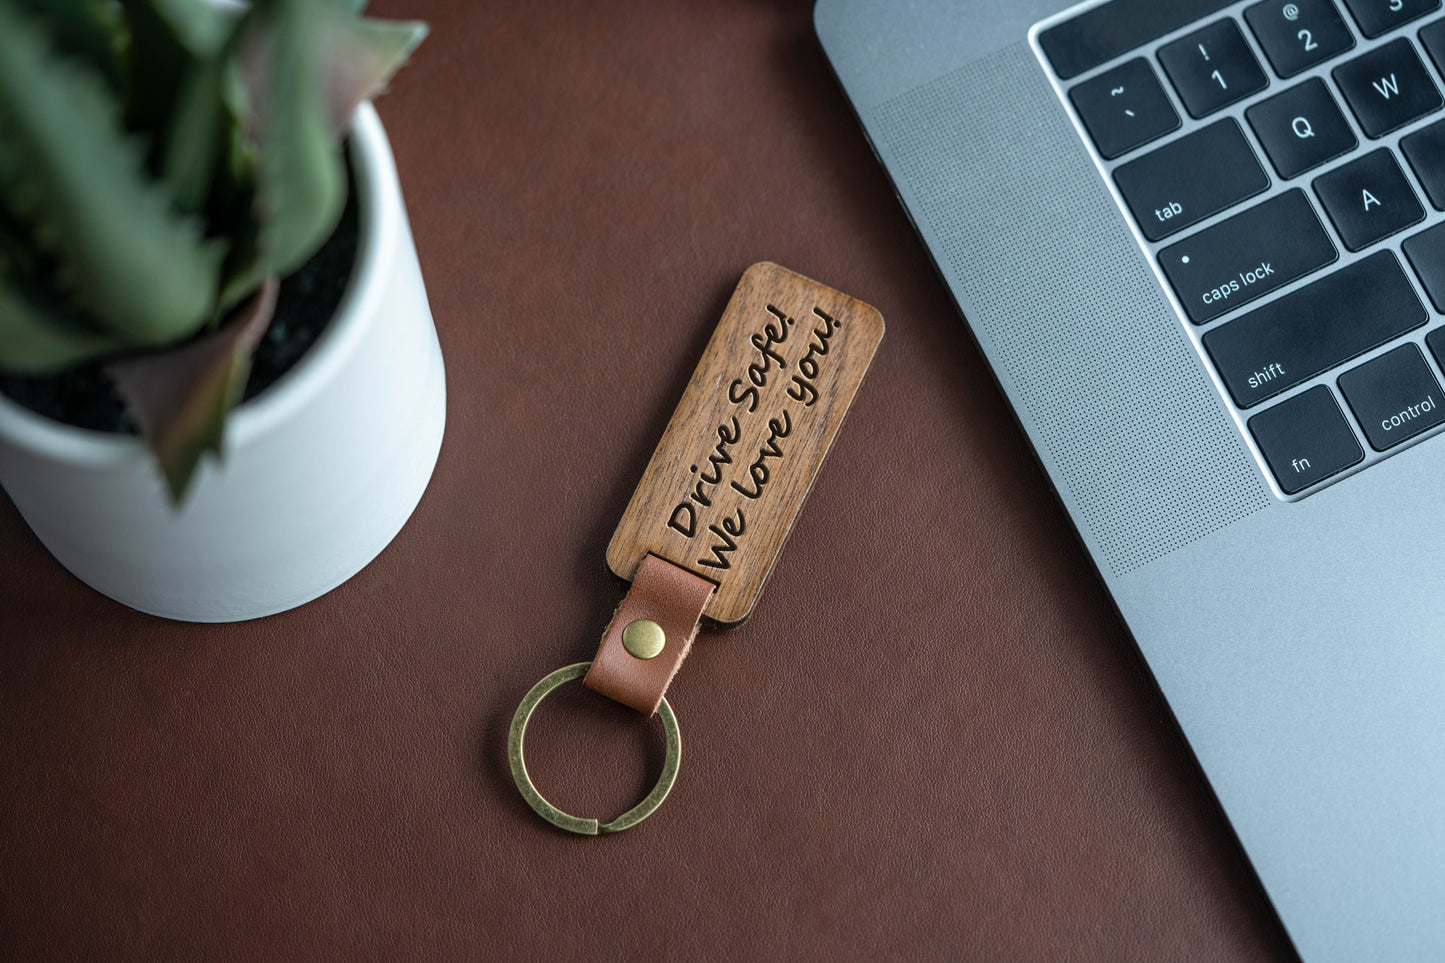
[[[1039,35],[1039,46],[1064,80],[1072,80],[1100,64],[1157,40],[1166,33],[1234,0],[1113,0],[1065,20]]]

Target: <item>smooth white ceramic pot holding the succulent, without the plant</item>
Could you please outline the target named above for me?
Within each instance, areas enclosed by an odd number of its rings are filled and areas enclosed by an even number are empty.
[[[0,395],[0,484],[51,554],[133,609],[236,622],[358,573],[410,518],[447,421],[447,383],[381,121],[351,127],[361,239],[337,315],[237,408],[225,458],[185,505],[131,437],[53,422]]]

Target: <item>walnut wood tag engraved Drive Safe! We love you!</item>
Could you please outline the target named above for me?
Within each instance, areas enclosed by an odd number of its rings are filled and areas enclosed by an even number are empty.
[[[773,263],[743,275],[607,547],[717,584],[702,615],[751,613],[883,340],[883,315]]]

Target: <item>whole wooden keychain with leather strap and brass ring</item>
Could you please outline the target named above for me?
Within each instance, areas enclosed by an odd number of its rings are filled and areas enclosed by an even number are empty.
[[[668,684],[702,619],[731,626],[753,612],[881,340],[883,315],[861,301],[769,262],[743,275],[607,547],[627,597],[592,661],[543,678],[512,719],[512,776],[538,816],[618,833],[668,797],[682,755]],[[662,716],[662,776],[610,823],[548,803],[523,761],[533,710],[574,680]]]

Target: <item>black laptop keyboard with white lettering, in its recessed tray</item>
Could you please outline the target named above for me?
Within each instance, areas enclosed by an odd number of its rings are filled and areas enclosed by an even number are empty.
[[[1110,0],[1035,30],[1287,497],[1445,425],[1441,6]]]

